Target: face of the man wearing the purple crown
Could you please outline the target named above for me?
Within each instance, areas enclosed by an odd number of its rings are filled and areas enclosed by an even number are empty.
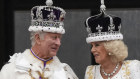
[[[47,57],[56,56],[61,45],[61,37],[58,33],[46,33],[44,39],[40,40],[42,54]]]

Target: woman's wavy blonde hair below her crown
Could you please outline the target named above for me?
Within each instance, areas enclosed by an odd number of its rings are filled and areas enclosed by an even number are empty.
[[[123,61],[128,56],[127,46],[121,40],[105,41],[104,47],[108,53],[111,53],[113,62]]]

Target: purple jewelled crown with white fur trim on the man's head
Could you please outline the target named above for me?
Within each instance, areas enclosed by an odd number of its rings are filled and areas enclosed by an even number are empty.
[[[66,12],[52,4],[52,0],[47,0],[46,6],[35,6],[31,9],[31,26],[28,29],[30,32],[65,33],[63,21]]]

